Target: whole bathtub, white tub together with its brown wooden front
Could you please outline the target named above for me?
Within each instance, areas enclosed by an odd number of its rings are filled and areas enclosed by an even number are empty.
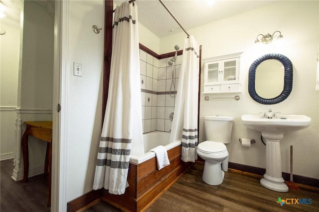
[[[181,141],[169,143],[170,133],[151,132],[143,135],[145,154],[131,155],[128,173],[129,187],[124,195],[112,195],[103,192],[103,200],[122,211],[145,211],[159,198],[186,169],[187,163],[181,160]],[[165,146],[169,165],[158,170],[154,152],[149,152],[158,145]]]

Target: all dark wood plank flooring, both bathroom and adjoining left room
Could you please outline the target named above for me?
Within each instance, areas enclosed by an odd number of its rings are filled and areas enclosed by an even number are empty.
[[[12,160],[1,161],[0,211],[49,212],[47,179],[42,175],[28,183],[14,182]],[[319,212],[319,189],[302,186],[300,190],[279,193],[262,187],[261,176],[229,170],[219,186],[209,186],[201,179],[203,166],[194,164],[169,188],[147,212]],[[278,198],[312,199],[311,205],[280,206]],[[85,212],[121,212],[99,202]]]

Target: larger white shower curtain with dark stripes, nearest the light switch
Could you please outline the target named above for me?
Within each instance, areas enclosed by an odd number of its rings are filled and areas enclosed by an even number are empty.
[[[121,195],[130,154],[144,153],[137,5],[124,2],[114,14],[111,73],[93,189]]]

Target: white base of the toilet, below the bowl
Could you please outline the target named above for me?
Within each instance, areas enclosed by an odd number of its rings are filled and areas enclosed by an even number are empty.
[[[220,185],[224,181],[225,172],[221,169],[221,162],[205,161],[202,179],[211,186]]]

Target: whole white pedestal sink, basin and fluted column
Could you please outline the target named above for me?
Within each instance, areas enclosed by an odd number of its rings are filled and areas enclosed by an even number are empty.
[[[305,129],[311,118],[306,115],[277,115],[277,118],[264,118],[261,114],[242,115],[243,124],[252,130],[260,131],[266,140],[266,174],[260,184],[276,192],[288,192],[282,177],[280,140],[285,132]]]

